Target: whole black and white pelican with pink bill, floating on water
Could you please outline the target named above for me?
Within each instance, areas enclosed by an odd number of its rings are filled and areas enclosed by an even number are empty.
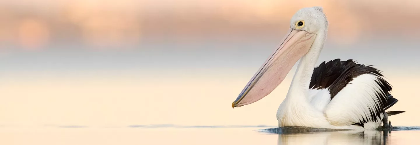
[[[381,71],[353,60],[335,59],[315,67],[324,46],[328,21],[322,7],[302,8],[278,48],[251,78],[232,107],[257,102],[270,94],[297,63],[286,98],[277,110],[279,127],[347,130],[389,127],[386,112],[398,100]]]

